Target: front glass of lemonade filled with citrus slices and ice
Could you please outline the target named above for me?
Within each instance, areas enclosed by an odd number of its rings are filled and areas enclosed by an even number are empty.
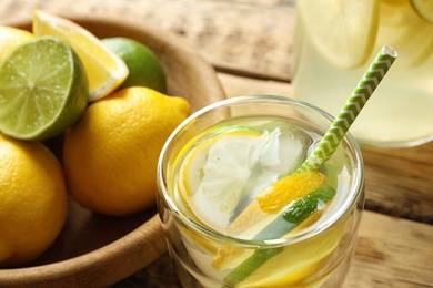
[[[160,156],[158,205],[184,287],[342,285],[364,205],[359,146],[346,135],[320,171],[295,173],[331,123],[298,100],[240,96],[173,132]],[[331,196],[314,198],[319,191]]]

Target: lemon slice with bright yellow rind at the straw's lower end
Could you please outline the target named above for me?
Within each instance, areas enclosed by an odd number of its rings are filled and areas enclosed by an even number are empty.
[[[228,234],[242,238],[253,238],[263,240],[265,238],[281,238],[291,229],[295,228],[301,222],[310,216],[310,210],[316,208],[306,206],[309,202],[315,204],[316,200],[310,200],[311,193],[322,193],[323,185],[328,178],[319,172],[302,172],[284,177],[269,188],[264,189],[228,228]],[[328,187],[328,186],[325,186]],[[325,191],[325,196],[334,195],[334,192]],[[299,204],[296,205],[296,202]],[[300,220],[285,219],[282,216],[282,208],[291,205],[296,207],[296,215]],[[302,217],[301,217],[302,216]],[[242,250],[232,249],[229,246],[222,246],[212,261],[212,266],[219,270],[233,268],[240,261],[248,258],[249,255]],[[254,264],[256,261],[254,260]]]

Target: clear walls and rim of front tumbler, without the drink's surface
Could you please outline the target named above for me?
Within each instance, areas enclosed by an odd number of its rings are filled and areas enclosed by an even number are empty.
[[[179,192],[179,174],[184,155],[214,131],[210,127],[228,120],[242,119],[246,119],[243,125],[249,119],[262,120],[263,123],[278,119],[278,123],[286,121],[318,137],[324,135],[333,121],[326,112],[302,101],[272,95],[240,96],[198,111],[173,132],[159,161],[158,207],[168,250],[180,281],[183,287],[207,288],[340,287],[354,255],[364,207],[363,161],[350,133],[323,167],[330,185],[336,191],[328,213],[314,225],[293,235],[263,240],[230,236],[197,219],[182,200],[184,196]],[[231,191],[222,193],[230,194]],[[221,247],[244,255],[278,253],[234,286],[224,278],[235,267],[215,269],[211,265]]]

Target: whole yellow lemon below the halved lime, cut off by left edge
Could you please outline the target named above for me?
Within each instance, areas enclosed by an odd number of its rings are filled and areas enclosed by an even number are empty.
[[[0,267],[38,258],[60,234],[67,214],[58,160],[39,142],[0,134]]]

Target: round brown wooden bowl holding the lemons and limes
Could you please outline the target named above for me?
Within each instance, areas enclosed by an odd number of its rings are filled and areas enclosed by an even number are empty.
[[[148,45],[168,75],[168,94],[185,97],[195,111],[224,99],[213,69],[185,40],[151,27],[102,19],[72,19],[99,38],[127,37]],[[16,24],[31,31],[31,21]],[[57,241],[34,263],[0,269],[7,287],[102,287],[112,285],[165,253],[157,209],[130,217],[91,213],[72,198]],[[0,228],[1,229],[1,228]]]

